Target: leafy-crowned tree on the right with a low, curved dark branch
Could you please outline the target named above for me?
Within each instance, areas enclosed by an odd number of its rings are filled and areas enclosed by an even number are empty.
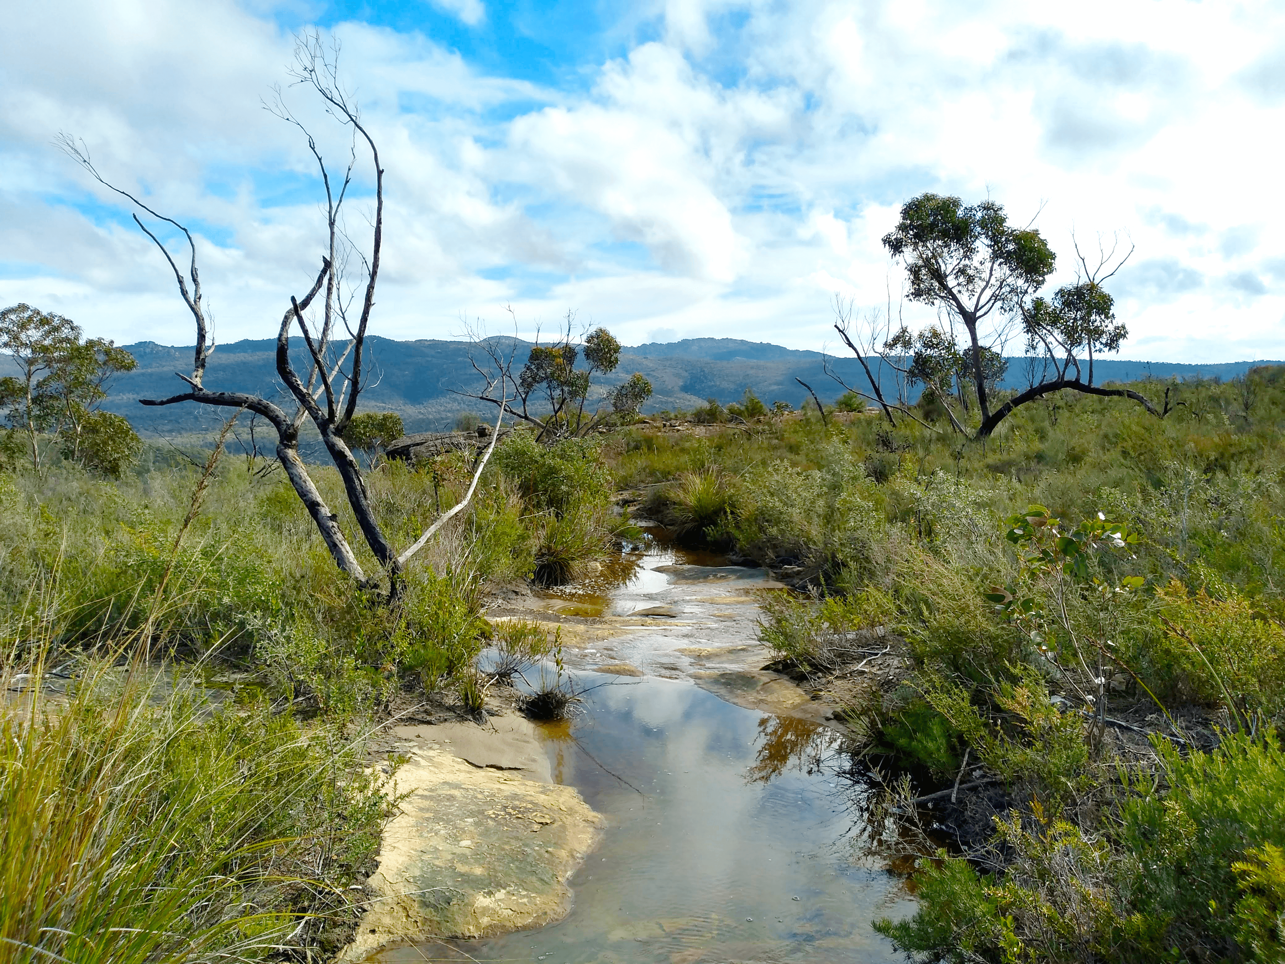
[[[893,329],[889,311],[883,319],[867,316],[864,330],[857,330],[851,305],[837,301],[835,329],[861,361],[871,393],[844,388],[876,401],[891,423],[896,424],[894,411],[914,418],[905,387],[916,383],[933,391],[956,432],[973,438],[986,438],[1014,409],[1061,389],[1131,398],[1159,416],[1137,392],[1094,384],[1095,355],[1118,351],[1128,334],[1115,321],[1103,283],[1132,249],[1119,260],[1114,249],[1100,251],[1096,267],[1090,267],[1077,244],[1079,278],[1051,297],[1037,297],[1056,261],[1041,234],[1010,225],[993,201],[965,206],[937,194],[906,202],[883,244],[906,269],[906,297],[935,307],[942,319],[916,333],[905,325]],[[1029,383],[993,406],[1007,369],[1004,348],[1018,330],[1031,356]],[[882,384],[884,366],[894,373],[893,401]],[[965,423],[974,401],[977,423],[970,431]]]

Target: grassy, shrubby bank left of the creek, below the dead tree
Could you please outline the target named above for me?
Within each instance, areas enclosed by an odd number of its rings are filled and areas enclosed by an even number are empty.
[[[592,442],[508,441],[389,604],[337,569],[275,463],[152,446],[120,468],[51,446],[0,472],[5,956],[324,958],[397,811],[402,757],[371,769],[371,734],[493,706],[483,647],[554,654],[493,634],[484,587],[608,553],[609,472]],[[470,469],[378,465],[380,523],[423,531]],[[337,473],[317,478],[344,505]]]

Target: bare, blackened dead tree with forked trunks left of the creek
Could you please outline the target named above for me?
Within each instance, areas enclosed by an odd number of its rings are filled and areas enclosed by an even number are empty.
[[[338,176],[337,170],[333,171],[328,167],[316,140],[290,112],[280,90],[276,90],[272,102],[266,104],[269,111],[298,127],[307,139],[308,150],[320,171],[326,202],[326,248],[321,256],[321,267],[302,297],[290,297],[290,305],[283,312],[276,332],[276,374],[292,398],[292,402],[284,407],[275,401],[248,392],[220,391],[206,386],[206,365],[215,351],[215,342],[202,301],[197,245],[191,233],[175,219],[158,213],[134,194],[105,180],[91,162],[84,143],[77,143],[67,135],[62,135],[59,143],[103,186],[126,198],[135,207],[135,224],[161,249],[173,272],[179,294],[195,323],[197,346],[191,374],[175,373],[186,383],[188,391],[167,398],[140,398],[139,401],[143,405],[158,406],[197,402],[216,407],[249,410],[265,419],[276,432],[276,458],[325,540],[335,566],[360,585],[374,586],[378,582],[378,573],[368,575],[365,572],[348,537],[339,526],[338,515],[326,505],[299,456],[299,431],[305,422],[311,422],[321,436],[326,454],[343,481],[344,496],[356,518],[357,527],[361,530],[361,536],[374,554],[380,571],[387,575],[389,598],[396,598],[402,585],[401,573],[410,558],[427,545],[433,533],[450,517],[463,510],[473,497],[478,478],[495,445],[492,441],[484,458],[481,459],[464,500],[438,518],[410,548],[398,553],[389,544],[375,518],[361,467],[343,440],[343,431],[357,411],[357,400],[369,378],[370,359],[366,337],[375,305],[375,284],[379,280],[379,261],[383,248],[384,171],[379,163],[375,140],[362,122],[357,104],[339,84],[338,58],[339,46],[337,42],[328,46],[321,41],[320,35],[307,33],[297,39],[294,66],[289,73],[293,85],[310,87],[324,102],[326,113],[350,130],[352,144],[342,176]],[[350,239],[342,217],[359,156],[369,157],[375,186],[370,242],[365,251]],[[182,234],[188,248],[185,269],[180,267],[175,254],[161,240],[157,231],[148,228],[139,217],[139,212],[167,224]],[[350,285],[346,266],[353,257],[361,263],[364,280]],[[356,303],[359,297],[360,305]],[[298,335],[302,337],[307,352],[302,365],[290,353],[290,333],[294,329],[298,329]]]

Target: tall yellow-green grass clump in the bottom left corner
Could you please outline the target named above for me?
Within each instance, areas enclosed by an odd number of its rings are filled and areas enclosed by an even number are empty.
[[[256,960],[335,943],[387,801],[359,747],[140,661],[0,681],[0,959]],[[35,658],[30,658],[33,656]]]

